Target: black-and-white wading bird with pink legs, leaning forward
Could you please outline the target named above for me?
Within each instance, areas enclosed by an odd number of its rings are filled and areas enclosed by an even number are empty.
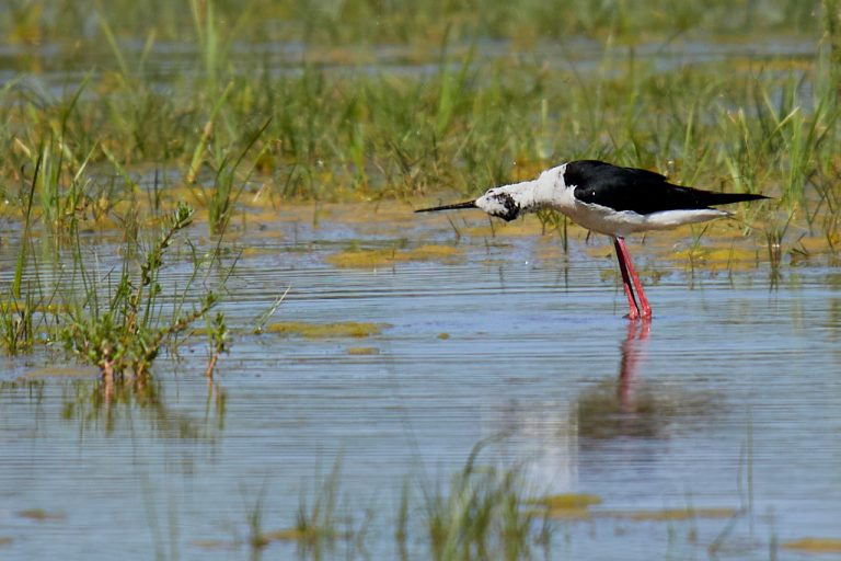
[[[712,207],[759,198],[768,197],[701,191],[673,185],[652,171],[579,160],[546,170],[537,180],[493,187],[475,201],[415,211],[481,208],[491,216],[514,220],[521,213],[541,208],[558,210],[578,225],[613,238],[627,297],[627,316],[632,320],[650,320],[652,307],[634,271],[625,236],[726,217],[729,213]]]

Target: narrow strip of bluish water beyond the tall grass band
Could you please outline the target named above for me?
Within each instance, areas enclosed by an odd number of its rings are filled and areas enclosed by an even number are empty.
[[[454,49],[466,56],[472,46],[456,45]],[[148,54],[145,54],[146,48],[146,42],[141,39],[124,38],[120,42],[123,56],[146,59],[146,80],[161,91],[169,91],[172,83],[200,71],[197,60],[201,58],[201,53],[193,43],[158,41]],[[615,53],[611,49],[615,49]],[[256,60],[262,65],[257,68],[274,78],[302,72],[303,61],[335,73],[378,75],[385,70],[393,76],[428,76],[440,69],[438,51],[433,49],[429,53],[423,56],[416,47],[404,45],[336,49],[297,42],[240,42],[231,45],[228,56],[233,71],[253,73]],[[534,58],[545,61],[548,68],[555,70],[569,70],[574,67],[576,72],[592,72],[604,64],[606,57],[610,58],[618,53],[650,64],[657,71],[665,72],[687,65],[726,60],[752,60],[756,64],[810,60],[816,56],[817,47],[811,39],[777,35],[770,38],[753,37],[741,43],[677,39],[668,44],[656,42],[621,47],[606,47],[598,41],[571,37],[561,44],[541,42],[527,53],[518,53],[516,45],[510,42],[482,39],[471,56],[477,61]],[[99,44],[83,51],[67,51],[61,44],[54,43],[38,46],[0,45],[0,83],[20,79],[24,89],[38,95],[72,96],[92,68],[107,68],[113,64],[113,57],[107,44]],[[454,65],[458,67],[461,60],[457,59]],[[730,70],[744,71],[738,67]]]

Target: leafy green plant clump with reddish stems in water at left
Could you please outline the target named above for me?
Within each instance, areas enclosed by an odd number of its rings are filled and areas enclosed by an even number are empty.
[[[180,204],[146,252],[139,271],[133,271],[127,262],[123,264],[113,294],[106,300],[102,298],[103,287],[87,273],[81,257],[77,260],[82,267],[80,273],[85,293],[66,313],[61,340],[78,359],[100,368],[103,379],[113,382],[127,374],[136,378],[148,375],[161,346],[206,317],[216,306],[217,297],[209,291],[189,311],[176,307],[168,319],[160,313],[158,302],[162,287],[159,274],[164,255],[176,233],[192,221],[193,209]],[[214,321],[217,327],[223,327],[223,319],[217,317]],[[223,348],[223,340],[221,344]]]

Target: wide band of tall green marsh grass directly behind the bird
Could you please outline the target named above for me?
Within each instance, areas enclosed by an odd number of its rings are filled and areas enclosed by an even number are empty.
[[[181,170],[177,181],[218,233],[242,210],[249,185],[274,205],[453,187],[475,194],[557,161],[596,157],[680,183],[770,194],[838,245],[838,31],[829,4],[821,20],[829,46],[807,60],[663,70],[607,37],[595,68],[583,69],[566,43],[560,66],[537,55],[483,58],[481,35],[460,42],[452,26],[429,49],[429,71],[401,73],[376,65],[335,71],[306,58],[278,73],[265,58],[238,58],[235,39],[253,31],[253,12],[222,31],[227,8],[188,7],[196,69],[168,77],[165,90],[154,85],[160,78],[149,62],[163,32],[150,31],[142,48],[128,50],[125,22],[107,10],[100,28],[113,70],[89,75],[68,101],[23,84],[3,90],[0,117],[9,126],[1,134],[18,149],[0,174],[18,176],[21,164],[41,158],[37,216],[57,225],[68,216],[117,216],[122,201],[139,201],[134,170],[150,164]],[[632,20],[617,16],[609,28]],[[722,72],[734,64],[735,72]],[[96,171],[103,162],[122,186]],[[748,221],[774,205],[752,205]],[[550,215],[541,220],[565,226]]]

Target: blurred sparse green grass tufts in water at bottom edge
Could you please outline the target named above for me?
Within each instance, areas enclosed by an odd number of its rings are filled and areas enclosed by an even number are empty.
[[[311,492],[302,491],[296,524],[289,528],[264,529],[261,493],[247,512],[247,542],[257,550],[273,541],[295,542],[304,559],[334,554],[338,542],[343,542],[348,559],[367,558],[369,529],[384,522],[394,528],[393,537],[404,559],[408,558],[410,543],[420,546],[429,559],[436,560],[531,559],[534,546],[548,546],[551,520],[526,499],[519,470],[474,463],[482,447],[480,444],[474,448],[446,491],[422,482],[415,493],[405,483],[393,520],[388,513],[383,519],[378,516],[382,511],[369,508],[359,522],[354,522],[349,505],[339,504],[339,462],[315,481]]]

